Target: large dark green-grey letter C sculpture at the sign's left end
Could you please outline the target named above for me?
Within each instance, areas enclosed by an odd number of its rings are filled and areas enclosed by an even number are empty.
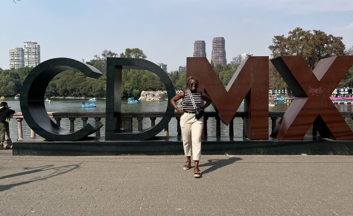
[[[71,69],[77,69],[92,78],[99,78],[102,75],[96,68],[82,62],[68,58],[56,58],[36,66],[29,72],[22,84],[20,106],[23,118],[36,134],[48,141],[77,141],[103,126],[101,123],[92,122],[79,131],[71,133],[57,126],[49,118],[44,105],[45,90],[57,74]]]

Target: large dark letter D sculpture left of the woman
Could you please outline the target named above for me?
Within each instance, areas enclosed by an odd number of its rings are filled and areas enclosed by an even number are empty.
[[[140,69],[154,72],[162,79],[167,89],[168,105],[166,114],[157,125],[141,133],[132,133],[132,131],[124,132],[120,130],[122,69]],[[160,133],[172,119],[174,108],[170,100],[175,94],[176,92],[172,80],[167,73],[156,64],[143,59],[107,58],[105,140],[142,141],[153,138]]]

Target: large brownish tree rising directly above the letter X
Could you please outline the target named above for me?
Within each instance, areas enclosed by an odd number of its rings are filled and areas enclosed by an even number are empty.
[[[311,69],[314,69],[320,59],[331,56],[344,55],[345,45],[342,37],[327,35],[320,30],[304,31],[302,28],[295,28],[284,35],[274,36],[272,45],[268,48],[273,58],[279,56],[303,56]]]

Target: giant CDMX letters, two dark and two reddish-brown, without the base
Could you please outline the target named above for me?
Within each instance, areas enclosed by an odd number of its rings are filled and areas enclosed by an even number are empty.
[[[312,71],[299,56],[271,60],[294,93],[295,99],[270,135],[278,141],[300,141],[315,125],[321,137],[353,141],[353,132],[330,100],[331,92],[353,65],[353,56],[323,59]],[[223,87],[206,58],[187,58],[187,76],[199,78],[199,89],[209,95],[224,124],[228,125],[245,99],[244,136],[249,140],[268,140],[268,57],[249,57]],[[26,77],[20,105],[28,126],[48,141],[78,141],[102,127],[89,123],[76,132],[57,126],[47,115],[44,94],[49,82],[60,72],[77,69],[89,77],[101,72],[87,64],[67,58],[50,59],[35,67]],[[157,74],[168,93],[167,110],[162,120],[150,129],[132,133],[120,128],[122,69],[148,70]],[[175,95],[166,72],[143,59],[107,58],[106,141],[143,141],[156,136],[169,123],[174,113],[170,99]]]

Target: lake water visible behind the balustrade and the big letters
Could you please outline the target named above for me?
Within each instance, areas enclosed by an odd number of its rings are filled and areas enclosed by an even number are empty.
[[[11,109],[15,110],[16,112],[20,112],[20,105],[19,105],[19,100],[13,100],[13,99],[5,99],[5,101],[8,103],[8,106],[11,107]],[[105,100],[100,99],[97,101],[94,101],[93,103],[96,105],[96,107],[92,108],[82,108],[82,102],[88,102],[86,99],[53,99],[54,103],[47,103],[45,102],[45,107],[47,109],[47,112],[105,112]],[[128,104],[127,100],[123,100],[121,104],[121,111],[122,112],[164,112],[167,108],[168,101],[139,101],[137,104]],[[336,107],[340,112],[353,112],[353,104],[335,104]],[[288,108],[288,104],[285,103],[277,103],[277,106],[271,106],[268,107],[268,111],[286,111]],[[244,107],[243,104],[239,107],[238,111],[243,111]],[[206,109],[207,111],[214,111],[212,106],[209,106]],[[94,121],[93,119],[88,119],[89,121]],[[159,118],[156,120],[156,124],[160,121]],[[278,120],[277,120],[278,121]],[[105,119],[103,118],[101,120],[102,124],[105,125]],[[352,119],[346,118],[346,122],[349,124],[351,128],[353,128],[353,121]],[[151,126],[151,120],[149,118],[144,118],[143,120],[143,128],[147,129]],[[27,138],[30,137],[30,129],[25,123],[25,121],[22,122],[22,127],[23,127],[23,137]],[[61,127],[65,129],[70,129],[70,121],[69,119],[62,119],[61,120]],[[78,130],[82,128],[82,120],[81,119],[76,119],[75,121],[75,130]],[[133,119],[133,128],[137,128],[137,119]],[[209,118],[207,121],[207,133],[209,136],[215,136],[216,135],[216,121],[214,118]],[[172,118],[172,120],[169,123],[169,134],[170,136],[176,136],[176,119]],[[270,119],[268,120],[268,134],[270,134],[271,130],[271,121]],[[105,127],[103,126],[100,129],[100,134],[101,136],[104,136],[105,134]],[[228,136],[229,134],[229,127],[225,126],[221,123],[221,135],[222,136]],[[234,119],[234,136],[242,136],[243,134],[243,120],[241,118],[236,118]],[[309,130],[308,134],[311,134],[311,131]],[[162,131],[160,136],[164,135],[164,132]],[[11,119],[10,121],[10,137],[13,141],[17,139],[17,121],[15,119]]]

